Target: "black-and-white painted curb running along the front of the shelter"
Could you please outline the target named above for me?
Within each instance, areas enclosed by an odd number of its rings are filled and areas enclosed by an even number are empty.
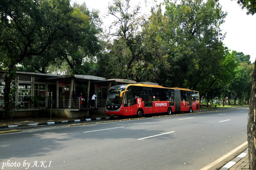
[[[107,119],[116,119],[116,118],[118,118],[118,116],[97,117],[97,118],[83,118],[83,119],[75,119],[75,120],[63,120],[63,121],[44,122],[44,123],[28,124],[28,125],[9,125],[9,126],[0,126],[0,129],[16,128],[16,127],[41,126],[41,125],[57,125],[57,124],[78,123],[78,122],[89,122],[89,121],[93,121],[93,120],[107,120]]]

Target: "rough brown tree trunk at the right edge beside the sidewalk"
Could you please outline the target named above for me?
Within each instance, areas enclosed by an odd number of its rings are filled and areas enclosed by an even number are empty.
[[[248,114],[248,125],[247,125],[250,169],[256,169],[256,133],[255,133],[256,131],[256,122],[255,122],[256,96],[255,95],[256,95],[256,67],[254,66],[254,71],[252,75],[250,108],[249,108],[249,114]]]

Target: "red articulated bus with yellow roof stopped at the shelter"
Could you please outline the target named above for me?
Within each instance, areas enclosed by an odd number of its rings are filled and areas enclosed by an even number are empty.
[[[137,115],[199,110],[199,92],[158,85],[124,84],[111,87],[106,115]]]

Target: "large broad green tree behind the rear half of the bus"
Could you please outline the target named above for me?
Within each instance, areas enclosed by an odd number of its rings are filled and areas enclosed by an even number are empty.
[[[165,1],[172,62],[172,86],[196,89],[204,94],[221,78],[224,58],[220,25],[226,14],[215,1]],[[179,84],[178,84],[179,83]]]

